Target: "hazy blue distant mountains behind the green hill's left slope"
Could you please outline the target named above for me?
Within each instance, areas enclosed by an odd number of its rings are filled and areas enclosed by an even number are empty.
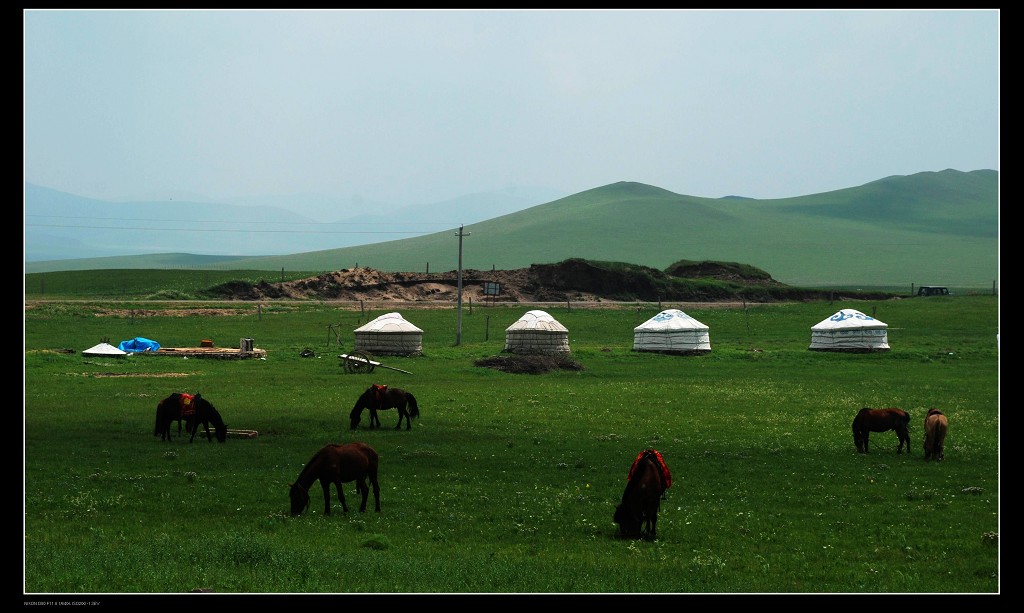
[[[565,195],[544,187],[398,207],[323,195],[114,203],[25,184],[25,261],[186,252],[264,256],[418,236]]]

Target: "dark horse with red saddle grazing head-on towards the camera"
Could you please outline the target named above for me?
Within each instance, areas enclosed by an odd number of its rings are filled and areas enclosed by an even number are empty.
[[[657,536],[657,511],[662,494],[672,484],[672,475],[662,454],[654,449],[644,449],[633,462],[623,492],[623,500],[615,507],[612,519],[618,524],[622,538],[655,538]]]

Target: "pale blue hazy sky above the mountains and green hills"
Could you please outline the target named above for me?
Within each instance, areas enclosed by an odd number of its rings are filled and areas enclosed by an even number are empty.
[[[998,10],[25,10],[25,180],[412,205],[999,169]]]

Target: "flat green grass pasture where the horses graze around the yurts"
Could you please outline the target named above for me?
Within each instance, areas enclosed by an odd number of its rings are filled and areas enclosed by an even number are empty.
[[[663,305],[669,308],[674,305]],[[189,310],[202,307],[202,310]],[[892,350],[808,350],[840,308],[889,324]],[[170,309],[162,311],[158,309]],[[998,300],[690,308],[713,351],[632,351],[658,305],[548,310],[583,370],[511,375],[498,355],[529,307],[398,310],[424,354],[346,374],[351,331],[387,312],[321,303],[31,303],[25,312],[25,592],[997,593]],[[340,340],[332,336],[341,331]],[[202,339],[266,359],[81,355],[109,338]],[[304,349],[315,357],[302,357]],[[62,352],[72,349],[73,353]],[[411,431],[348,429],[371,383],[419,400]],[[253,439],[162,442],[158,400],[201,392]],[[862,406],[911,414],[859,454]],[[948,415],[926,462],[927,407]],[[302,516],[288,489],[329,442],[381,455],[380,514]],[[623,540],[612,512],[636,454],[673,473],[655,540]]]

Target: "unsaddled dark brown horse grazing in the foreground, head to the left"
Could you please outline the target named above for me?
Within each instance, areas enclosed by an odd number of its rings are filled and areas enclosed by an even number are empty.
[[[362,495],[359,513],[365,513],[367,497],[370,495],[367,477],[370,477],[370,483],[374,486],[374,510],[380,513],[381,488],[377,484],[379,462],[377,451],[366,443],[324,446],[313,454],[305,468],[302,469],[295,483],[289,486],[291,488],[289,495],[292,498],[292,517],[302,515],[302,512],[309,507],[309,488],[317,479],[319,479],[321,487],[324,488],[324,515],[331,515],[332,483],[338,488],[338,499],[341,500],[342,511],[348,513],[342,483],[349,481],[355,481],[355,488]]]

